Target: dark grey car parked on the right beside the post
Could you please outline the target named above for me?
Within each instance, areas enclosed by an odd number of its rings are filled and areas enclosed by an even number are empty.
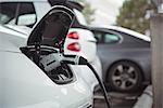
[[[128,92],[150,83],[150,37],[116,26],[98,25],[91,31],[98,40],[106,85]]]

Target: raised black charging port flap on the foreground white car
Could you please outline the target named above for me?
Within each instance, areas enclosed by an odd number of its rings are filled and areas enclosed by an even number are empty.
[[[53,6],[36,24],[28,37],[27,45],[40,44],[63,48],[73,19],[74,13],[72,10],[62,5]]]

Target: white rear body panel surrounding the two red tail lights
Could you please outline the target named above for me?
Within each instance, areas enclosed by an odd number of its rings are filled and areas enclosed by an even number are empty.
[[[73,32],[73,31],[76,31],[79,35],[79,39],[74,40],[74,39],[66,38],[65,43],[64,43],[65,53],[66,54],[77,54],[77,55],[84,56],[90,63],[93,62],[97,56],[97,53],[96,53],[97,45],[96,45],[96,39],[92,37],[92,32],[90,32],[87,29],[80,29],[80,28],[72,28],[72,29],[70,29],[68,32]],[[73,42],[79,43],[79,45],[80,45],[79,52],[73,52],[73,51],[66,49],[66,46]],[[88,51],[90,51],[90,52],[88,53]]]

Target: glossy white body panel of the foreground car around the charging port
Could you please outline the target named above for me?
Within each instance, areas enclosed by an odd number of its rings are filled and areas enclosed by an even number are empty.
[[[73,82],[61,85],[54,83],[21,52],[20,48],[26,46],[28,37],[5,26],[0,26],[0,28],[1,108],[85,108],[91,106],[92,92],[83,78],[75,73],[82,72],[77,67],[71,67],[75,76]]]

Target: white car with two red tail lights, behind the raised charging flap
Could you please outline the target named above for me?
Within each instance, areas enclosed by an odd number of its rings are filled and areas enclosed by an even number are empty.
[[[51,4],[48,0],[1,0],[0,8],[0,24],[33,27],[51,9]],[[76,15],[75,23],[79,27],[70,29],[64,44],[64,53],[87,58],[102,79],[102,68],[97,56],[96,39],[90,30],[80,27],[80,25],[87,25],[84,15],[77,9],[72,9]],[[88,67],[82,66],[80,69],[85,81],[93,91],[98,84],[97,79]]]

